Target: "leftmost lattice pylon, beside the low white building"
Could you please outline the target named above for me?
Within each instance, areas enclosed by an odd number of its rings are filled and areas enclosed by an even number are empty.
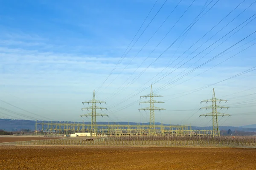
[[[82,111],[83,111],[83,109],[87,109],[87,111],[92,110],[91,113],[83,114],[83,115],[81,115],[81,117],[82,117],[82,116],[86,116],[86,117],[91,116],[91,117],[92,117],[91,129],[90,129],[90,138],[92,138],[92,134],[93,134],[93,133],[95,134],[95,136],[96,136],[96,138],[97,138],[98,135],[97,135],[96,116],[102,116],[102,117],[103,117],[103,116],[108,116],[108,115],[96,113],[96,109],[100,109],[100,110],[102,110],[102,109],[108,110],[108,109],[107,109],[107,108],[98,107],[98,106],[96,106],[96,103],[99,103],[99,104],[101,104],[101,103],[107,104],[107,103],[106,103],[106,102],[103,102],[103,101],[96,100],[96,99],[95,99],[95,91],[93,91],[93,99],[92,99],[92,100],[89,100],[89,101],[87,101],[87,102],[82,102],[82,103],[83,103],[83,105],[84,105],[84,103],[88,103],[88,105],[89,105],[89,103],[92,103],[92,104],[93,104],[93,105],[90,106],[90,107],[81,108]]]

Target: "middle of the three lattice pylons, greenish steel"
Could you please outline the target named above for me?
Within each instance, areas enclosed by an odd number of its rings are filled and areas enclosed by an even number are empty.
[[[149,117],[149,130],[148,130],[148,135],[151,135],[152,132],[155,131],[155,124],[154,124],[154,110],[165,110],[163,108],[157,108],[154,106],[154,103],[164,103],[164,102],[160,102],[160,101],[156,101],[154,100],[154,97],[163,97],[163,96],[160,96],[160,95],[157,95],[157,94],[153,94],[153,89],[152,89],[152,85],[151,85],[151,93],[148,94],[148,95],[145,95],[145,96],[140,96],[140,99],[142,97],[145,97],[147,99],[147,97],[150,97],[150,100],[148,101],[145,101],[145,102],[140,102],[141,103],[150,103],[150,107],[147,107],[147,108],[141,108],[139,109],[139,111],[141,110],[150,110],[150,117]]]

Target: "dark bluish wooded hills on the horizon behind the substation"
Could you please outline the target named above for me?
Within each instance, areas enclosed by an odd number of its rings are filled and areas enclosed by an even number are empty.
[[[41,123],[43,121],[37,121]],[[48,123],[48,121],[44,121]],[[56,123],[56,121],[52,121]],[[61,123],[66,123],[61,121]],[[82,123],[82,122],[80,122]],[[90,124],[90,122],[84,122],[84,124]],[[108,125],[108,124],[118,124],[118,125],[149,125],[149,123],[137,123],[137,122],[97,122],[97,124]],[[161,125],[161,123],[156,122],[155,125]],[[164,124],[167,125],[167,124]],[[13,120],[13,119],[0,119],[0,129],[6,131],[19,131],[21,129],[29,129],[31,131],[35,130],[35,121],[33,120]],[[197,127],[192,126],[193,130],[212,130],[211,126],[207,127]],[[220,126],[220,130],[239,130],[239,131],[247,131],[247,132],[256,132],[256,125],[246,125],[241,127],[233,127],[233,126]]]

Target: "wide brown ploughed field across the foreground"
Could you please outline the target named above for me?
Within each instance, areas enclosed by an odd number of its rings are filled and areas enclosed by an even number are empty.
[[[1,170],[255,170],[256,149],[0,145]]]

